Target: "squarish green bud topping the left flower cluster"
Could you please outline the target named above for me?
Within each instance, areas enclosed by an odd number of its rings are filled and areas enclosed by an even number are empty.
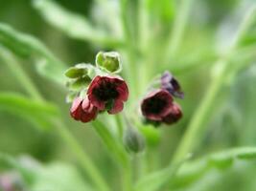
[[[122,71],[120,55],[116,52],[97,53],[96,66],[107,73],[120,73]]]

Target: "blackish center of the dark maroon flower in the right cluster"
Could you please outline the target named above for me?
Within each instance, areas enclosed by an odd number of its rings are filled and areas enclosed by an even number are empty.
[[[151,114],[159,114],[165,108],[167,101],[157,97],[151,97],[148,103],[146,104],[146,111]]]

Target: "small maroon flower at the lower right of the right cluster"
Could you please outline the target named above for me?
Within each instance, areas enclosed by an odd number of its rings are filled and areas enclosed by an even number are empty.
[[[163,122],[166,124],[173,124],[182,117],[182,111],[178,104],[173,103],[169,109],[169,114],[163,117]]]

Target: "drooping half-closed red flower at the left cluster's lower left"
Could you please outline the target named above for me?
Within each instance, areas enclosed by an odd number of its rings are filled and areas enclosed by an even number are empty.
[[[70,115],[81,122],[88,122],[97,117],[98,109],[91,104],[87,96],[84,99],[76,97],[70,108]]]

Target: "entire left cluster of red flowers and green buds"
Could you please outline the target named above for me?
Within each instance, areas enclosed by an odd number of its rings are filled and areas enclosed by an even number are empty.
[[[107,111],[117,114],[128,100],[128,85],[118,75],[121,72],[118,53],[100,52],[96,56],[96,66],[78,64],[69,68],[65,75],[70,94],[67,101],[73,102],[70,115],[81,122],[88,122],[98,114]]]

